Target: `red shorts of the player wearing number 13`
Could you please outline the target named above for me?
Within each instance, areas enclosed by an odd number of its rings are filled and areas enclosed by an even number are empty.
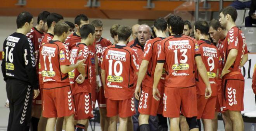
[[[163,116],[180,117],[180,110],[185,117],[197,116],[196,88],[164,87]]]

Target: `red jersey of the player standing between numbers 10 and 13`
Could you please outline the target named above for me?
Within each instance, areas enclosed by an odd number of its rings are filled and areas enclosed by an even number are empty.
[[[142,60],[149,61],[149,64],[147,66],[147,73],[145,75],[142,85],[145,85],[150,88],[153,87],[153,83],[154,83],[154,72],[155,72],[156,63],[157,63],[157,48],[158,48],[158,44],[162,39],[164,38],[156,37],[154,39],[150,39],[147,41],[147,43],[144,46]],[[159,84],[161,84],[160,87],[164,86],[164,82],[165,82],[165,69],[163,69],[162,77],[159,82]]]

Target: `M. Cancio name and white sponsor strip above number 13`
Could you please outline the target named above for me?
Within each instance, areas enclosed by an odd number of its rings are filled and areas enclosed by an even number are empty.
[[[168,49],[191,49],[191,46],[188,40],[169,41]]]

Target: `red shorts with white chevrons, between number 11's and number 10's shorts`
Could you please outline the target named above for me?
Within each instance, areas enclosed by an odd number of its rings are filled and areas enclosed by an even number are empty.
[[[91,119],[93,117],[92,98],[90,93],[81,92],[74,95],[76,120]]]

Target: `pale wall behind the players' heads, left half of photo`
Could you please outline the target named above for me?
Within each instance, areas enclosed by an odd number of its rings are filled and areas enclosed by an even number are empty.
[[[71,17],[64,18],[64,20],[74,23],[74,18],[71,18]],[[92,20],[94,19],[89,19],[89,20],[90,22],[92,22]],[[37,17],[34,17],[34,24],[36,24],[36,21],[37,21]],[[102,22],[104,26],[102,37],[105,37],[110,41],[114,42],[109,32],[109,29],[113,24],[133,26],[134,24],[137,24],[138,20],[137,19],[120,19],[120,20],[102,19]],[[7,36],[15,32],[16,29],[17,29],[16,17],[0,16],[0,50],[1,51],[3,48],[3,41],[6,39]],[[2,71],[0,70],[0,107],[3,107],[6,99],[7,99],[7,96],[6,96],[6,90],[5,90],[5,82],[3,81]]]

